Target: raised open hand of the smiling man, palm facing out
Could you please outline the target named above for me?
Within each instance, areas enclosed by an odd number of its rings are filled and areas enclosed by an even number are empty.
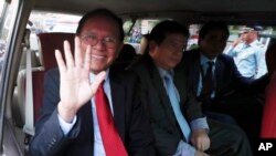
[[[93,83],[89,81],[91,46],[82,52],[79,38],[75,38],[74,58],[71,52],[70,43],[64,41],[65,61],[61,52],[55,51],[55,59],[60,70],[60,95],[61,101],[57,111],[61,117],[71,123],[77,111],[87,103],[96,93],[98,85],[105,77],[105,72],[96,75]]]

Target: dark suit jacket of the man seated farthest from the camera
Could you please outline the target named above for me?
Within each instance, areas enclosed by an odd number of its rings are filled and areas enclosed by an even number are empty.
[[[199,77],[201,72],[200,49],[187,51],[183,54],[182,62],[179,66],[184,67],[188,76],[188,87],[197,95]],[[234,60],[221,54],[215,62],[215,98],[221,100],[234,91],[262,92],[269,82],[268,75],[258,80],[247,79],[241,75],[234,63]]]

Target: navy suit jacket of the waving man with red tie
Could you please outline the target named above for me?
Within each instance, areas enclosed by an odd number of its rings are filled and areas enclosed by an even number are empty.
[[[136,79],[110,67],[109,79],[115,126],[130,156],[155,155],[152,133],[145,118],[136,94]],[[41,117],[31,141],[33,156],[92,156],[94,147],[93,115],[91,102],[77,113],[77,121],[67,136],[63,135],[57,119],[60,101],[60,74],[55,69],[45,75],[44,98]]]

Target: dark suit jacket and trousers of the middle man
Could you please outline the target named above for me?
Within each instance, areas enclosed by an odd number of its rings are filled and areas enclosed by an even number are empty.
[[[139,75],[139,87],[145,112],[150,118],[158,156],[171,156],[177,152],[182,137],[163,82],[151,58],[146,53],[130,67]],[[187,90],[184,69],[174,69],[174,85],[180,95],[181,111],[190,123],[204,117],[197,98]],[[208,119],[211,146],[208,153],[215,156],[251,156],[246,136],[241,129],[230,124]]]

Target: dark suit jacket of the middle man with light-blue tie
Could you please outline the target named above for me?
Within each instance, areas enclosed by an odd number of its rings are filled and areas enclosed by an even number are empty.
[[[170,100],[163,87],[162,79],[148,54],[145,54],[130,69],[139,75],[139,93],[141,95],[145,111],[151,122],[151,127],[156,138],[155,144],[158,153],[157,155],[173,155],[180,139],[184,141],[184,138],[182,137],[174,117]],[[181,110],[188,122],[191,122],[192,119],[203,117],[203,114],[199,104],[197,104],[195,98],[189,97],[189,94],[185,91],[184,80],[183,72],[174,73],[174,84],[180,93]]]

